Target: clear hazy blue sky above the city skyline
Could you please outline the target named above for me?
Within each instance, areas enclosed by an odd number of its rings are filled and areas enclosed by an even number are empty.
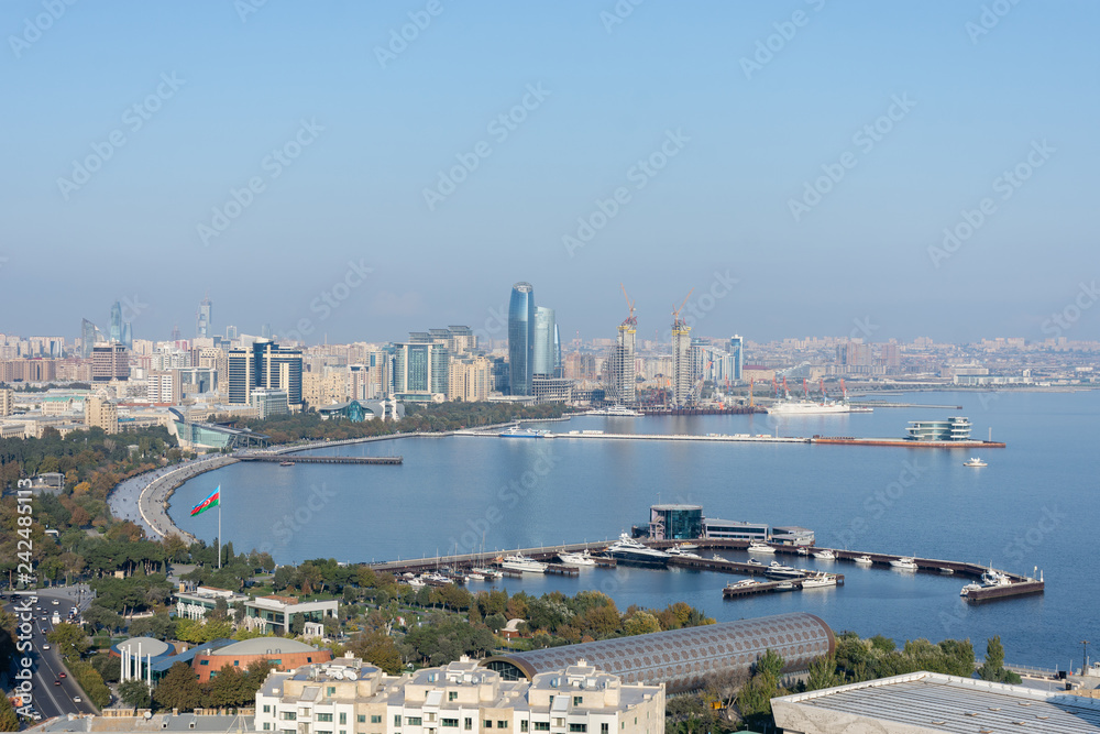
[[[563,339],[620,282],[639,336],[694,288],[701,335],[1043,339],[1100,275],[1094,2],[258,1],[0,6],[0,331],[492,331],[529,281]]]

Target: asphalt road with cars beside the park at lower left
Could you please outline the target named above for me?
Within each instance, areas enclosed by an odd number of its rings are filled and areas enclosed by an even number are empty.
[[[56,611],[62,618],[65,618],[74,606],[82,612],[91,601],[88,588],[55,587],[38,591],[37,601],[32,601],[30,592],[6,596],[6,600],[4,610],[14,614],[20,622],[23,622],[24,615],[33,616],[31,649],[19,650],[16,657],[16,665],[19,658],[26,657],[32,660],[32,709],[37,711],[43,720],[70,713],[97,713],[76,679],[65,668],[57,648],[46,639],[46,635],[53,628],[50,622],[51,615]],[[45,649],[46,647],[50,649]],[[76,701],[77,698],[80,699],[79,702]]]

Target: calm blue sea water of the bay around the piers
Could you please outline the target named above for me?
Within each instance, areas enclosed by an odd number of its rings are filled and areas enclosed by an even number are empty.
[[[553,431],[750,432],[901,437],[906,421],[961,414],[975,437],[1008,442],[972,451],[807,445],[634,440],[410,438],[342,447],[349,456],[405,457],[400,467],[238,463],[180,487],[172,516],[212,540],[218,517],[187,510],[222,486],[226,540],[263,548],[276,561],[389,560],[614,538],[648,521],[657,502],[691,502],[704,514],[801,525],[818,545],[992,562],[1032,573],[1046,593],[970,606],[965,580],[928,573],[818,566],[846,574],[832,590],[725,602],[725,574],[592,569],[579,579],[505,580],[509,591],[607,592],[625,610],[683,600],[719,621],[790,611],[822,616],[834,629],[898,639],[970,637],[979,655],[999,634],[1011,662],[1080,665],[1080,640],[1100,640],[1097,603],[1096,445],[1100,393],[891,396],[961,405],[879,408],[871,414],[779,419],[762,416],[605,418],[549,423]],[[330,450],[331,451],[331,450]],[[729,558],[745,558],[729,552]],[[800,559],[802,560],[802,559]],[[476,590],[476,585],[472,584]]]

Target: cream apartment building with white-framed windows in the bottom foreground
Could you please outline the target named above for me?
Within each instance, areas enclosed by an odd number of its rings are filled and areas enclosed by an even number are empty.
[[[345,657],[272,673],[256,731],[278,734],[661,734],[664,687],[626,684],[584,660],[504,680],[463,658],[388,676]]]

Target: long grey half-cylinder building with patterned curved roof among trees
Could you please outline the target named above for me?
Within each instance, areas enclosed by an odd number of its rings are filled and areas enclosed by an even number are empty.
[[[624,683],[664,683],[674,693],[702,688],[714,673],[748,671],[768,649],[783,658],[787,671],[805,670],[836,651],[836,637],[821,617],[800,612],[498,655],[482,665],[505,680],[530,680],[584,659]]]

